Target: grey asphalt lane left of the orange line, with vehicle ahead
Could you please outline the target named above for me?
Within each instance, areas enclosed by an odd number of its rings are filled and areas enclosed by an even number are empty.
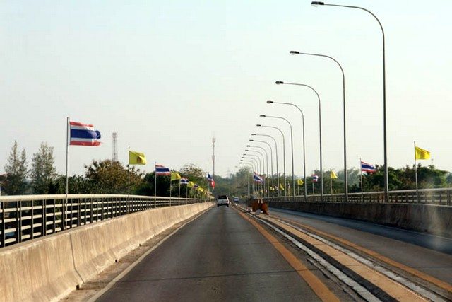
[[[97,301],[319,301],[231,207],[208,210],[151,252]]]

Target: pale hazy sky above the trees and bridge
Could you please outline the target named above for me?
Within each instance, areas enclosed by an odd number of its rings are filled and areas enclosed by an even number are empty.
[[[452,171],[452,1],[338,0],[362,6],[386,35],[388,165],[414,164],[413,141],[431,151],[437,168]],[[119,161],[127,150],[172,169],[194,163],[234,173],[251,133],[282,141],[287,173],[293,126],[295,174],[302,175],[305,116],[307,174],[319,168],[321,98],[323,169],[343,169],[340,69],[345,71],[347,167],[359,158],[383,163],[382,35],[365,11],[310,1],[22,1],[0,2],[0,173],[14,141],[31,161],[42,141],[54,147],[65,173],[66,117],[94,124],[99,147],[69,147],[69,175],[93,159]],[[428,165],[432,161],[422,161]],[[280,168],[281,172],[281,168]]]

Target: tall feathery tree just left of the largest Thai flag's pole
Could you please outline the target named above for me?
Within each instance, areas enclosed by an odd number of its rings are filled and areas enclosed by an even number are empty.
[[[31,187],[35,194],[49,194],[50,186],[57,178],[54,161],[54,148],[42,142],[39,151],[33,154],[30,170]]]

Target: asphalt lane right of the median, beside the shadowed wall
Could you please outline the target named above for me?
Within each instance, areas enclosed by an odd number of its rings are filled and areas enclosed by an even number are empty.
[[[297,211],[272,208],[270,214],[331,233],[452,284],[452,238]]]

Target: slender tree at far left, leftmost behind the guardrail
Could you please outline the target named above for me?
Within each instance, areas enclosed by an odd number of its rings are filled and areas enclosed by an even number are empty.
[[[27,190],[27,155],[25,149],[18,152],[17,141],[14,141],[11,153],[9,153],[8,161],[4,166],[6,172],[6,182],[4,183],[4,191],[8,195],[25,194]]]

